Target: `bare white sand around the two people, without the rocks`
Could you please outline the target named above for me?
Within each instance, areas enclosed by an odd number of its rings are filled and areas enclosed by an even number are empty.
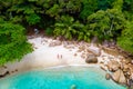
[[[84,59],[79,56],[74,56],[75,49],[65,49],[63,44],[57,47],[49,47],[49,43],[55,40],[45,38],[29,39],[34,47],[34,51],[24,56],[20,62],[7,63],[8,70],[23,71],[32,68],[47,68],[55,66],[68,66],[68,65],[88,65]],[[59,57],[58,57],[59,55]],[[60,57],[62,56],[62,58]]]

